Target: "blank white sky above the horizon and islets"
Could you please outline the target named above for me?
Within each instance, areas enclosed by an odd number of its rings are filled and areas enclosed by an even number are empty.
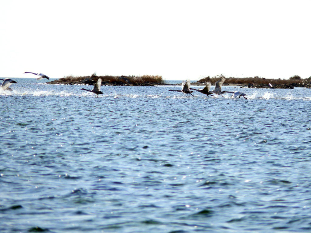
[[[311,76],[309,0],[2,0],[0,77]]]

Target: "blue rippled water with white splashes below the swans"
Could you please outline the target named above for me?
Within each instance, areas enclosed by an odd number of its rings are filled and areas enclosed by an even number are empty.
[[[0,232],[311,231],[310,89],[95,98],[15,80],[0,92]]]

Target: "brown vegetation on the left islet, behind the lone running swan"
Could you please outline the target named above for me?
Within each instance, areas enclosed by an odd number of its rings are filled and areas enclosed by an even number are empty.
[[[102,80],[101,81],[102,85],[154,86],[154,85],[163,85],[165,83],[165,81],[162,79],[162,76],[160,75],[97,76],[96,72],[94,72],[91,76],[72,76],[72,75],[65,76],[58,80],[49,82],[49,84],[94,85],[98,79]]]

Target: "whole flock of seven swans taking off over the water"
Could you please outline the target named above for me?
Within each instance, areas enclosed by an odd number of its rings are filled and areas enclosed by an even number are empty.
[[[25,72],[24,74],[26,74],[26,73],[31,73],[31,74],[34,74],[34,75],[38,76],[37,80],[41,80],[43,78],[49,79],[48,76],[46,76],[46,75],[44,75],[42,73]],[[14,81],[12,79],[8,79],[8,78],[7,79],[0,79],[0,80],[3,80],[3,83],[1,85],[2,90],[11,90],[9,88],[9,86],[11,84],[13,84],[13,83],[17,83],[16,81]],[[196,90],[198,92],[201,92],[202,94],[206,94],[207,96],[209,96],[209,95],[210,96],[214,96],[213,94],[217,94],[217,95],[221,95],[222,97],[223,97],[222,94],[224,94],[224,93],[232,93],[231,98],[235,98],[235,97],[238,97],[238,96],[240,98],[241,96],[243,96],[245,99],[247,99],[245,97],[247,94],[244,94],[244,93],[239,92],[239,91],[234,91],[234,92],[233,91],[222,91],[221,90],[221,86],[222,86],[222,84],[224,82],[225,82],[225,77],[220,78],[215,83],[215,89],[210,91],[210,89],[211,89],[211,83],[210,82],[207,82],[206,86],[203,89],[194,89],[194,88],[190,88],[190,80],[187,79],[186,82],[184,82],[184,81],[182,82],[181,90],[169,90],[169,91],[178,91],[178,92],[183,92],[185,94],[191,94],[191,93],[193,93],[193,91],[191,91],[191,90]],[[97,94],[96,97],[98,97],[99,94],[103,94],[100,91],[100,85],[101,85],[101,79],[99,78],[96,81],[96,83],[94,85],[94,88],[92,90],[87,90],[87,89],[84,89],[84,88],[82,88],[81,90],[93,92],[93,93]],[[194,96],[193,94],[191,94],[191,95]]]

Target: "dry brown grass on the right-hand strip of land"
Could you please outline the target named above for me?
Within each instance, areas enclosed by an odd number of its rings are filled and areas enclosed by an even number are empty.
[[[296,76],[296,75],[295,75]],[[205,77],[203,79],[198,80],[198,82],[206,82],[209,81],[212,85],[215,84],[217,80],[219,80],[221,77],[224,77],[224,75],[217,75],[212,78]],[[227,77],[225,83],[227,84],[269,84],[272,85],[281,85],[281,84],[291,84],[291,83],[301,83],[303,80],[301,79],[266,79],[266,78],[260,78],[258,76],[255,77],[249,77],[249,78],[234,78],[234,77]]]

